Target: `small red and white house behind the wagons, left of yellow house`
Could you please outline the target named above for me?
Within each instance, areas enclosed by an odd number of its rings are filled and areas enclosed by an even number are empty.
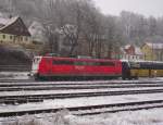
[[[121,59],[123,60],[143,60],[143,53],[139,47],[126,45],[121,48]]]

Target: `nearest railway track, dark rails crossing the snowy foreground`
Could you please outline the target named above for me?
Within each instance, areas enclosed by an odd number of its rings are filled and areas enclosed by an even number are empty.
[[[163,100],[84,105],[84,107],[73,107],[73,108],[67,107],[65,109],[67,109],[75,115],[95,115],[95,114],[100,114],[100,113],[115,113],[115,112],[123,112],[123,111],[136,111],[136,110],[142,110],[142,109],[148,110],[148,109],[154,109],[154,108],[163,108]],[[55,113],[60,110],[63,110],[63,109],[54,108],[54,109],[0,112],[0,117],[21,116],[25,114],[32,115],[32,114],[39,114],[39,113]]]

